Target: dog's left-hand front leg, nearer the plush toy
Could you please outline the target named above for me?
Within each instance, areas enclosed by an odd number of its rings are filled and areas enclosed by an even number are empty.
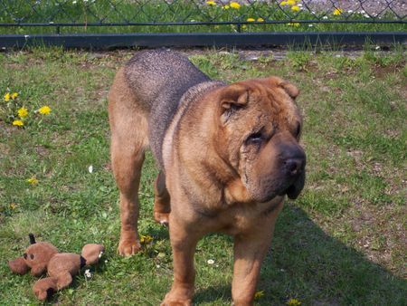
[[[192,305],[194,296],[194,252],[201,237],[173,212],[169,215],[169,232],[173,249],[174,282],[161,306]]]

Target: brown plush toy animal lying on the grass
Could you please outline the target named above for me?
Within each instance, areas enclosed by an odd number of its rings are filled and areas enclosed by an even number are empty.
[[[104,252],[103,245],[86,244],[81,254],[58,253],[58,249],[52,244],[36,243],[33,234],[29,236],[31,245],[25,250],[23,257],[8,262],[8,265],[11,271],[21,275],[28,273],[30,269],[34,276],[47,272],[49,277],[38,280],[33,285],[33,292],[41,301],[49,298],[53,292],[68,287],[72,276],[80,268],[98,263]]]

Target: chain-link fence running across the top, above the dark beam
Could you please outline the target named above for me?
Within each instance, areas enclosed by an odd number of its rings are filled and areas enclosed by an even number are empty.
[[[10,34],[405,33],[405,0],[0,0]]]

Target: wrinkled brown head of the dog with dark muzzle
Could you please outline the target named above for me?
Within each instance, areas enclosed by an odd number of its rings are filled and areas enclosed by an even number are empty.
[[[239,173],[251,200],[296,198],[305,181],[299,146],[298,89],[277,77],[234,83],[220,94],[223,158]]]

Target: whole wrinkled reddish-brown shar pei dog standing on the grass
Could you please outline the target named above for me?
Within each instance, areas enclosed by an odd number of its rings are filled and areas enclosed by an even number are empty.
[[[169,225],[174,282],[162,305],[191,305],[194,250],[208,233],[234,239],[232,300],[251,305],[285,196],[304,186],[298,89],[278,77],[213,81],[183,55],[143,51],[109,91],[111,160],[119,189],[118,253],[140,250],[138,186],[147,148],[154,217]]]

